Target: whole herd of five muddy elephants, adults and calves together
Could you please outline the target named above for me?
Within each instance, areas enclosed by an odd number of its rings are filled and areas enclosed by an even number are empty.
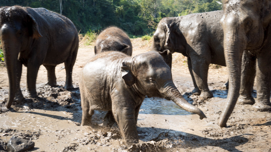
[[[67,90],[72,89],[72,68],[79,40],[73,23],[44,8],[0,8],[0,38],[9,78],[7,108],[24,97],[20,89],[22,64],[27,67],[27,87],[37,97],[40,65],[47,69],[48,85],[56,85],[55,67],[63,63]],[[236,103],[254,104],[271,111],[271,0],[225,0],[222,11],[161,19],[150,52],[131,57],[132,44],[124,31],[109,27],[95,43],[95,56],[79,78],[82,122],[91,125],[94,110],[108,111],[104,124],[117,124],[127,146],[138,143],[136,130],[145,98],[172,100],[186,111],[205,114],[189,104],[172,80],[172,53],[187,57],[194,90],[201,99],[212,98],[208,89],[209,64],[227,66],[227,105],[220,118],[224,127]],[[256,101],[251,96],[254,78]],[[238,102],[237,102],[238,100]]]

